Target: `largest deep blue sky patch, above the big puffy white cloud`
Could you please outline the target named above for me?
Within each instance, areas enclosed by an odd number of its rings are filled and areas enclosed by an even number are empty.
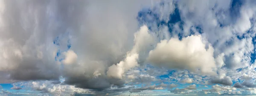
[[[161,29],[160,27],[167,26],[170,35],[172,36],[172,33],[175,33],[177,34],[179,40],[181,40],[184,36],[186,36],[183,32],[184,22],[182,20],[182,17],[180,16],[180,10],[177,7],[177,3],[174,3],[174,12],[172,12],[168,18],[164,18],[168,21],[165,21],[160,18],[160,15],[157,13],[158,10],[156,8],[158,6],[155,6],[154,8],[143,9],[140,12],[138,12],[137,20],[140,26],[145,24],[152,32],[158,32],[159,29]],[[160,3],[159,6],[164,6],[164,3]],[[175,25],[178,26],[179,30],[174,29]],[[203,33],[203,28],[200,25],[192,26],[191,28],[193,27],[195,30],[190,30],[189,35],[194,35],[195,31],[197,31],[200,34]]]

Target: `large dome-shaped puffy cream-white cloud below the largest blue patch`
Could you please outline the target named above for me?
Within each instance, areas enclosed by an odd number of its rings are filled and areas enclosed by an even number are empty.
[[[208,47],[208,49],[206,49]],[[163,40],[149,52],[148,61],[159,67],[188,69],[192,72],[215,75],[214,49],[203,43],[201,35]]]

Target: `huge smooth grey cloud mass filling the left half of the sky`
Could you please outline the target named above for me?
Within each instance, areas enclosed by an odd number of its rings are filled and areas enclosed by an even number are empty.
[[[124,81],[108,79],[105,71],[132,48],[137,12],[141,4],[150,3],[7,0],[0,15],[0,49],[4,50],[0,51],[0,71],[13,80],[58,80],[64,76],[65,84],[76,87],[122,87]],[[81,63],[63,68],[58,61],[69,43]],[[55,58],[58,50],[60,57]]]

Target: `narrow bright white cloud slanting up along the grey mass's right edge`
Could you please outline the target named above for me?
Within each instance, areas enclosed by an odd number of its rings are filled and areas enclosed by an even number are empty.
[[[134,47],[127,52],[126,58],[118,64],[113,64],[108,68],[108,77],[122,79],[122,75],[129,69],[138,66],[140,50],[145,50],[147,46],[153,42],[153,37],[148,33],[148,27],[140,27],[140,31],[134,34]]]

